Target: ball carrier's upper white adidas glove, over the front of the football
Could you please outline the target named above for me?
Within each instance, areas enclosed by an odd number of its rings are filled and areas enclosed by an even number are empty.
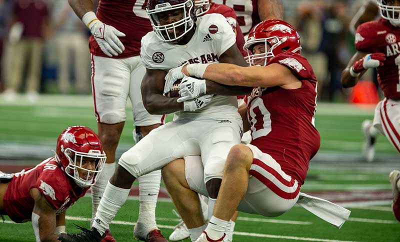
[[[190,76],[185,76],[179,84],[180,98],[177,102],[183,102],[194,99],[200,94],[205,94],[207,87],[204,79],[196,79]]]

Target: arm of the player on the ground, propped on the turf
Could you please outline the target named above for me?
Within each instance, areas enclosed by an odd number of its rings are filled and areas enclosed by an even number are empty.
[[[57,242],[55,208],[37,188],[31,188],[29,193],[34,200],[32,227],[36,241]]]

